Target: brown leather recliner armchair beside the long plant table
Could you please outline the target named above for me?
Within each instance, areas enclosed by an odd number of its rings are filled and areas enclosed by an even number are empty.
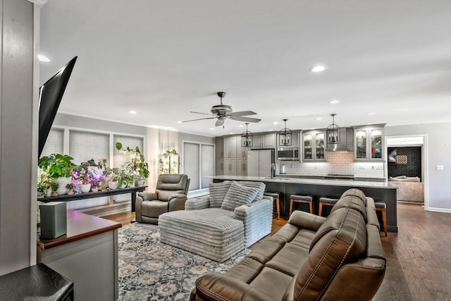
[[[185,174],[158,177],[155,192],[140,192],[136,197],[135,215],[140,223],[158,223],[161,214],[184,210],[190,179]]]

